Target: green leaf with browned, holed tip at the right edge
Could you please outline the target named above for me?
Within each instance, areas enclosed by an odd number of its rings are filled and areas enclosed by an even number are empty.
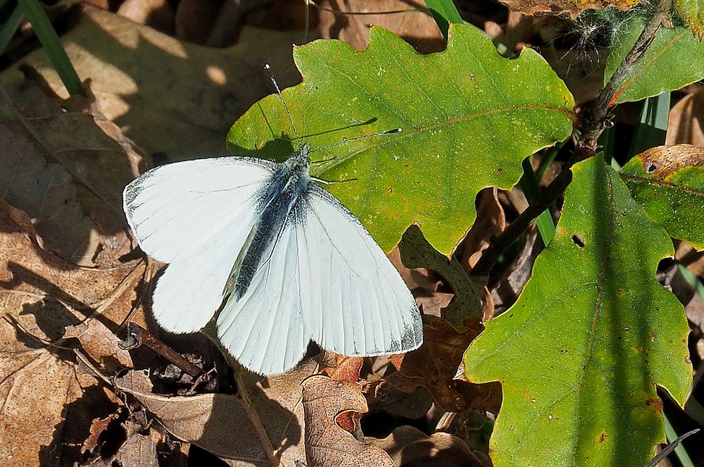
[[[690,144],[648,149],[623,166],[621,178],[648,217],[671,237],[704,249],[704,149]]]

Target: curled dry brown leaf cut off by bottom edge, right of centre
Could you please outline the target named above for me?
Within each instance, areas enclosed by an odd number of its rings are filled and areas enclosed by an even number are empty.
[[[402,425],[383,438],[367,438],[391,456],[396,467],[478,467],[485,464],[472,454],[467,444],[450,433],[430,436],[412,426]]]

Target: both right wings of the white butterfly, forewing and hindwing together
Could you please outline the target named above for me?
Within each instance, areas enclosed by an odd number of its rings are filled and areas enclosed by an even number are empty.
[[[420,311],[363,225],[310,184],[263,254],[241,299],[227,299],[218,336],[244,366],[284,373],[310,339],[338,354],[374,356],[417,349]]]

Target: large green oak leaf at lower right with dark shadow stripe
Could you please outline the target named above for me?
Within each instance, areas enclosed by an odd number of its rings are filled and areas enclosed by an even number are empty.
[[[672,242],[603,158],[574,166],[555,237],[516,303],[465,353],[500,381],[501,466],[642,466],[665,440],[654,385],[684,404],[689,326],[655,279]]]

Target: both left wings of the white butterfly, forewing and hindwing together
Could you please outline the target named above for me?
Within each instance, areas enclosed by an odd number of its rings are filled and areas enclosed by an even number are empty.
[[[220,308],[239,251],[258,216],[258,189],[276,165],[210,158],[161,166],[125,187],[127,221],[142,249],[169,263],[152,312],[171,332],[203,328]]]

